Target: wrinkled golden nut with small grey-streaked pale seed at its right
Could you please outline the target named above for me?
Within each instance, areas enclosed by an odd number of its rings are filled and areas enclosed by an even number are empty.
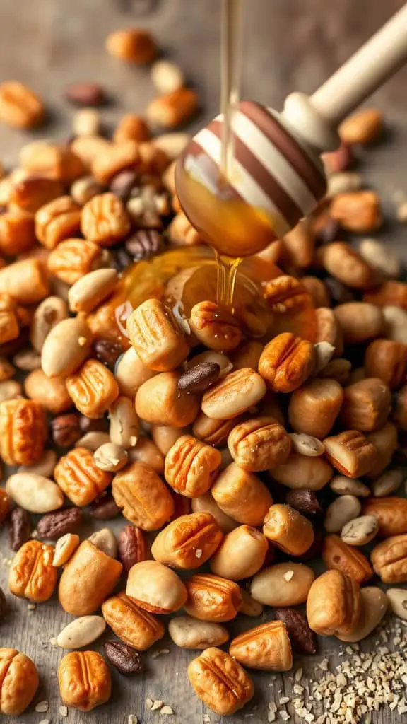
[[[259,417],[236,425],[227,438],[227,447],[240,468],[255,473],[285,463],[291,439],[273,418]]]

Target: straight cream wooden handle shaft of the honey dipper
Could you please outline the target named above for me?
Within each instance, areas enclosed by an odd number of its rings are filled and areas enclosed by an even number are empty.
[[[311,96],[314,108],[338,125],[407,60],[407,4]]]

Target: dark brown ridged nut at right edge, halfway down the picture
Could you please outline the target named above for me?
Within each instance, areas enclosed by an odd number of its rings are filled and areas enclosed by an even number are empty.
[[[374,340],[366,349],[364,368],[369,377],[379,377],[390,390],[406,380],[407,345],[395,340]]]

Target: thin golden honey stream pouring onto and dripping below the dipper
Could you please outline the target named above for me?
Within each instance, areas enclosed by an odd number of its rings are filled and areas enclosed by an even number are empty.
[[[233,170],[234,134],[232,119],[240,99],[242,0],[222,0],[221,98],[223,114],[219,185]],[[233,311],[236,276],[240,258],[219,256],[217,260],[217,303]]]

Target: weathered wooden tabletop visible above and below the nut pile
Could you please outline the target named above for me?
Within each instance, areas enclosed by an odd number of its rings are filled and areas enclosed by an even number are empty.
[[[290,90],[314,90],[327,74],[343,62],[359,44],[390,16],[400,0],[246,0],[243,94],[279,108]],[[1,0],[0,79],[15,78],[28,83],[46,99],[50,123],[35,133],[36,138],[62,138],[70,134],[72,109],[63,101],[64,84],[73,80],[96,80],[105,85],[112,104],[104,111],[107,127],[112,127],[123,111],[142,111],[154,95],[148,71],[125,67],[104,51],[104,38],[112,30],[143,24],[154,30],[160,46],[185,69],[188,79],[200,90],[203,113],[193,130],[217,112],[219,98],[219,0]],[[401,71],[374,97],[374,104],[386,111],[389,133],[386,143],[369,153],[364,163],[369,183],[385,198],[387,223],[382,238],[407,257],[403,248],[406,232],[392,222],[391,199],[397,190],[407,190],[406,171],[406,82]],[[1,127],[0,159],[15,163],[22,143],[22,132]],[[122,524],[122,521],[121,521]],[[117,526],[120,522],[117,522]],[[1,534],[2,557],[9,558],[6,531]],[[7,564],[0,559],[0,585],[7,591]],[[193,694],[186,676],[193,652],[177,649],[167,639],[153,647],[169,649],[159,657],[146,652],[146,673],[125,678],[114,671],[112,699],[90,714],[70,710],[67,719],[59,715],[56,669],[62,650],[49,639],[70,620],[53,600],[28,610],[28,602],[9,600],[9,615],[0,628],[0,645],[15,646],[28,653],[41,673],[41,689],[35,702],[46,699],[49,711],[40,714],[30,707],[17,717],[18,724],[34,724],[48,719],[51,724],[127,724],[128,715],[137,715],[143,724],[164,720],[159,712],[146,708],[146,698],[161,699],[172,706],[175,724],[200,724],[209,715],[211,724],[221,718],[204,707]],[[256,620],[242,618],[243,628]],[[232,631],[236,630],[233,624]],[[104,638],[108,638],[105,636]],[[364,644],[374,648],[377,637]],[[305,675],[327,656],[331,668],[343,657],[334,639],[325,639],[318,657],[296,661]],[[346,655],[346,654],[345,654]],[[254,674],[256,696],[243,712],[229,721],[267,722],[267,705],[283,694],[290,696],[292,673]],[[303,683],[303,682],[301,682]],[[290,721],[296,721],[291,717]],[[375,723],[400,723],[403,717],[382,710]],[[5,717],[6,722],[12,719]],[[15,722],[16,719],[14,718]],[[205,718],[206,722],[209,720]]]

